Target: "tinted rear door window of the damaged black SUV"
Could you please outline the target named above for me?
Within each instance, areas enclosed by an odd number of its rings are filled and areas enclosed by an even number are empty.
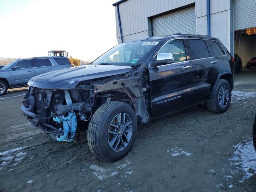
[[[188,39],[187,42],[188,42],[188,49],[190,52],[190,58],[192,60],[209,57],[208,48],[204,40]]]

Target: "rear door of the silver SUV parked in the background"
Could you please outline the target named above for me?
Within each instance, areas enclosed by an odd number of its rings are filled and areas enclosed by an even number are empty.
[[[36,76],[54,70],[52,63],[48,58],[33,59],[33,62]]]

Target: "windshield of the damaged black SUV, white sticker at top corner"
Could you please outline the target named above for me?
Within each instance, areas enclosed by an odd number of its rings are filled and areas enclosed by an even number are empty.
[[[119,44],[96,59],[93,64],[136,65],[159,41],[135,41]]]

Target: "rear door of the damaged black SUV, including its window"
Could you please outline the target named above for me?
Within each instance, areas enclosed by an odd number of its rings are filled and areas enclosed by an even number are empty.
[[[210,58],[204,40],[186,39],[185,42],[188,46],[190,60],[195,68],[193,80],[195,95],[191,100],[194,104],[198,104],[207,100],[210,96],[211,85],[208,82],[208,79],[209,75],[213,73],[210,72],[213,58]]]

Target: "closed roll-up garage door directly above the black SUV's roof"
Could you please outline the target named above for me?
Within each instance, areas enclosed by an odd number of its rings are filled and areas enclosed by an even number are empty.
[[[172,35],[174,33],[196,34],[196,12],[191,6],[157,16],[152,19],[153,36]]]

